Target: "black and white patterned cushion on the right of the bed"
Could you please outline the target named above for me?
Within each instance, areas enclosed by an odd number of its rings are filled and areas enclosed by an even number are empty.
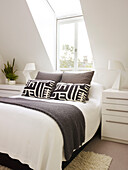
[[[50,98],[86,102],[89,88],[88,84],[57,83]]]

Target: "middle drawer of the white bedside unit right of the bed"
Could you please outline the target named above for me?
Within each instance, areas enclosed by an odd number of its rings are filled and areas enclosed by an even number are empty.
[[[102,114],[128,117],[128,105],[102,104]]]

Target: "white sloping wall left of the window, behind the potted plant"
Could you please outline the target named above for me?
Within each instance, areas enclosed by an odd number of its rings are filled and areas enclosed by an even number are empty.
[[[37,70],[53,70],[25,0],[0,0],[0,54],[4,62],[16,59],[18,82],[25,81],[28,62],[35,62]]]

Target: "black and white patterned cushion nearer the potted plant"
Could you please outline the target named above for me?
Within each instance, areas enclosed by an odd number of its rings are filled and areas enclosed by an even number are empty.
[[[55,81],[52,80],[28,80],[22,96],[48,99],[54,88]]]

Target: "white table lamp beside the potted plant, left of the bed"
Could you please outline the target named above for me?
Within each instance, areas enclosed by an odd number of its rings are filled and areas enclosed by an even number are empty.
[[[25,68],[24,68],[24,71],[23,71],[23,74],[25,76],[25,79],[26,79],[26,83],[28,80],[31,79],[31,76],[30,76],[30,72],[36,70],[36,67],[35,67],[35,63],[27,63],[25,65]]]

